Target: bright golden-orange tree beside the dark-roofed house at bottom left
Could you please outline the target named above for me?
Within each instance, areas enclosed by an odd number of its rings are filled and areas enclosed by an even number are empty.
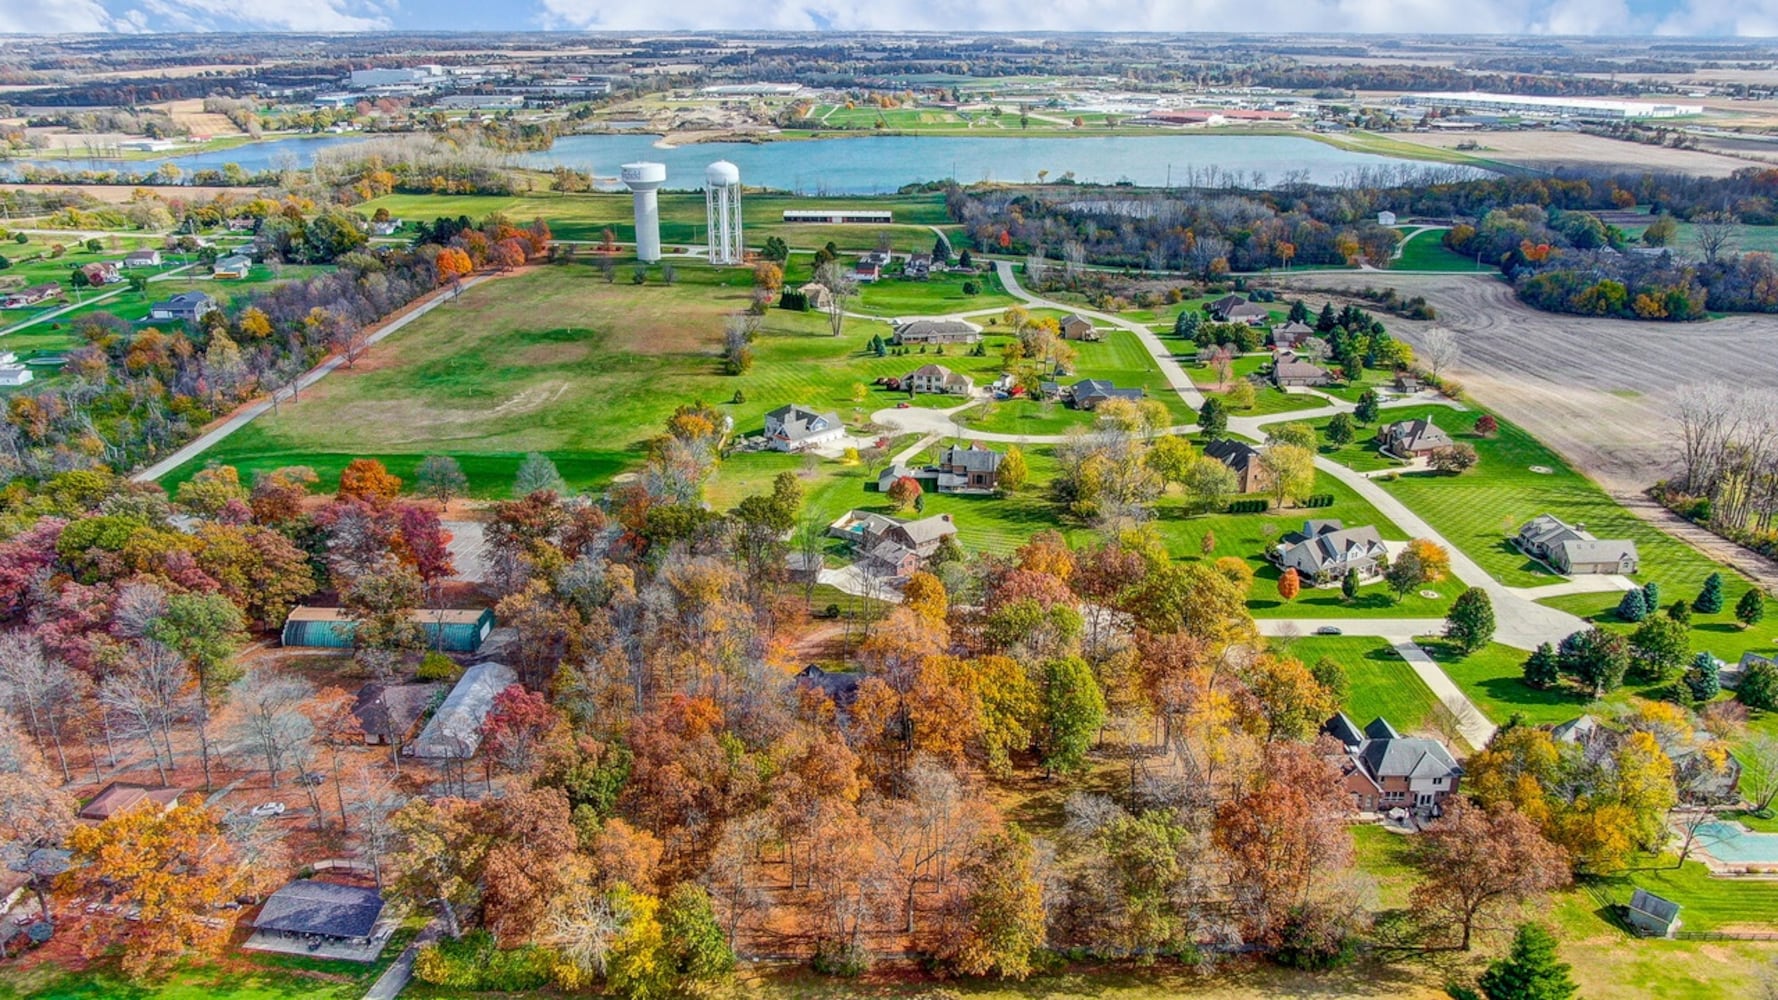
[[[124,973],[146,979],[181,956],[213,956],[228,943],[238,911],[220,906],[240,893],[245,872],[196,797],[167,811],[140,806],[76,827],[68,847],[68,890],[121,907],[117,916],[82,923],[89,954],[123,945]]]

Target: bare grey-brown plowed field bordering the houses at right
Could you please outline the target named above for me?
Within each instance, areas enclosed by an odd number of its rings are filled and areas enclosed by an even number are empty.
[[[1390,331],[1410,343],[1431,326],[1456,331],[1463,356],[1453,374],[1463,386],[1614,493],[1639,493],[1671,472],[1670,413],[1682,383],[1778,386],[1778,367],[1750,363],[1778,352],[1771,317],[1652,324],[1543,313],[1488,274],[1319,272],[1280,285],[1424,295],[1438,320],[1390,319]]]

